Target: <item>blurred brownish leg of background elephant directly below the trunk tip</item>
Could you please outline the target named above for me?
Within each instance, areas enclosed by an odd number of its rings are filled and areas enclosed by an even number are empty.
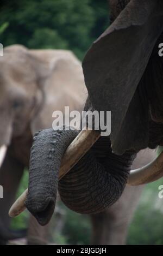
[[[28,227],[28,245],[46,245],[49,237],[50,223],[42,227],[36,219],[30,215]]]

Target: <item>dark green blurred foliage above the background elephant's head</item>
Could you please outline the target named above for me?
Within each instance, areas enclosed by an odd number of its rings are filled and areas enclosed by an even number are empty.
[[[1,38],[4,46],[70,49],[80,58],[109,25],[105,0],[2,1],[1,9],[0,26],[9,22]]]

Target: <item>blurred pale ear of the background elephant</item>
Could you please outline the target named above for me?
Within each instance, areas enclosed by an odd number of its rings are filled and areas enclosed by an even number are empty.
[[[30,50],[30,55],[33,55],[33,59],[39,59],[36,72],[43,94],[41,108],[31,122],[34,134],[37,130],[52,128],[54,111],[61,111],[63,116],[65,106],[69,106],[70,111],[82,111],[87,91],[82,64],[71,51]],[[42,73],[45,74],[43,78]]]

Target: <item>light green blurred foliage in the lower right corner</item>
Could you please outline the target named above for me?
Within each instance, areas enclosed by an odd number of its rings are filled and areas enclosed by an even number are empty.
[[[129,228],[128,245],[163,245],[163,199],[158,197],[162,184],[160,179],[145,187]]]

